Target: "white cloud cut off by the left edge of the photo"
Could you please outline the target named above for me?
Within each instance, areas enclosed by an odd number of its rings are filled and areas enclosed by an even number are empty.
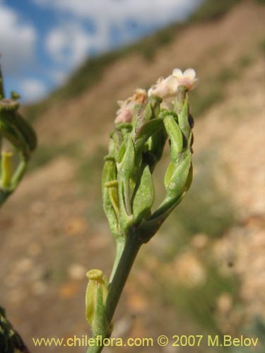
[[[6,73],[17,74],[33,60],[36,40],[33,25],[23,23],[15,11],[0,2],[0,53]]]

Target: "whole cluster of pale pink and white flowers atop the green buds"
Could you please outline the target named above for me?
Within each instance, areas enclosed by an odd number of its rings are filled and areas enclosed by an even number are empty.
[[[193,68],[187,68],[184,72],[179,68],[175,68],[167,78],[158,78],[157,83],[148,92],[138,88],[132,97],[118,101],[119,110],[117,111],[115,124],[130,123],[134,116],[136,105],[146,103],[151,95],[157,95],[163,99],[162,108],[172,110],[177,90],[179,88],[184,88],[187,91],[193,90],[197,82],[198,78],[196,78],[196,72]]]

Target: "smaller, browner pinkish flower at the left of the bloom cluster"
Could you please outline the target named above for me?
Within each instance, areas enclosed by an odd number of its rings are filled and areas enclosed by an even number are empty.
[[[119,110],[115,119],[115,124],[130,123],[134,116],[134,108],[136,104],[143,104],[146,102],[147,93],[142,88],[137,88],[132,97],[127,100],[119,100]]]

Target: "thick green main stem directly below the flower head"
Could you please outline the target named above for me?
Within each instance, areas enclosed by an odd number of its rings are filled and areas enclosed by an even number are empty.
[[[117,265],[117,270],[114,273],[113,280],[110,283],[110,289],[107,294],[105,304],[107,320],[109,323],[112,322],[119,298],[121,297],[122,290],[124,289],[126,280],[129,277],[129,273],[131,271],[132,265],[134,264],[141,244],[142,243],[139,241],[139,237],[137,237],[136,234],[130,234],[126,237],[124,251],[122,252],[119,264]],[[102,337],[102,340],[104,340],[104,338],[107,337]],[[102,352],[103,348],[104,345],[89,347],[87,353],[100,353]]]

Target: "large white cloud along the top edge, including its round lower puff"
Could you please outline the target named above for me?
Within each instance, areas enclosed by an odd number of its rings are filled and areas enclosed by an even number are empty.
[[[40,6],[71,14],[72,24],[60,25],[47,35],[46,47],[57,61],[69,61],[73,67],[85,58],[88,49],[110,49],[110,29],[119,31],[119,44],[129,42],[131,32],[126,21],[143,26],[163,26],[183,18],[201,0],[32,0]],[[76,18],[74,18],[76,17]],[[88,33],[78,20],[95,22],[95,32]]]

